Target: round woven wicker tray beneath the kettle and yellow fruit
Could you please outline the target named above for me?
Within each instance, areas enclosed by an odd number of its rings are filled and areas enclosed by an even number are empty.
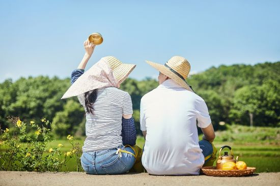
[[[245,170],[218,170],[216,167],[202,167],[201,171],[207,176],[247,176],[255,172],[255,167]]]

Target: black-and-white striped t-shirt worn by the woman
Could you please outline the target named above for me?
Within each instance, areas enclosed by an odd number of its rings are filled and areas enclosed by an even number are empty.
[[[78,96],[87,112],[85,94]],[[86,140],[82,151],[104,150],[122,145],[122,117],[132,114],[132,102],[128,92],[117,87],[97,89],[93,114],[86,113]]]

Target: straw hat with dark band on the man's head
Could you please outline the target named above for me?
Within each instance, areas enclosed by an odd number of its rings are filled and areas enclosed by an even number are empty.
[[[160,65],[148,60],[146,60],[146,62],[165,76],[173,79],[182,87],[193,92],[193,90],[185,80],[188,77],[190,65],[187,59],[185,59],[184,57],[173,56],[164,65]]]

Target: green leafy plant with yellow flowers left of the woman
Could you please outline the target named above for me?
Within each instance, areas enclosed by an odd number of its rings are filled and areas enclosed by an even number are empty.
[[[48,148],[48,143],[54,141],[51,139],[53,125],[45,118],[40,123],[25,123],[18,117],[9,117],[8,120],[14,127],[0,131],[0,170],[62,171],[67,162],[74,158],[76,170],[82,171],[79,162],[82,153],[80,144],[73,142],[73,136],[67,137],[72,148],[63,152],[63,144]],[[27,136],[27,128],[33,132],[32,136]]]

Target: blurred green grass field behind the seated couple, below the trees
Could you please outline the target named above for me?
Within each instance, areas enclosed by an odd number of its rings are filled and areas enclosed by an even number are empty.
[[[226,131],[216,132],[214,145],[218,150],[223,145],[231,146],[234,157],[239,156],[239,160],[244,161],[248,167],[256,167],[256,172],[280,172],[279,136],[280,128],[230,126]],[[202,135],[200,135],[201,138]],[[79,142],[82,146],[84,139],[82,137],[74,141]],[[48,148],[55,147],[59,143],[63,144],[62,151],[68,151],[71,148],[71,144],[66,138],[49,143]],[[143,148],[144,143],[144,138],[138,136],[136,145]],[[222,150],[221,154],[224,151],[229,151],[229,149]],[[75,171],[75,165],[75,160],[70,160],[64,171]]]

